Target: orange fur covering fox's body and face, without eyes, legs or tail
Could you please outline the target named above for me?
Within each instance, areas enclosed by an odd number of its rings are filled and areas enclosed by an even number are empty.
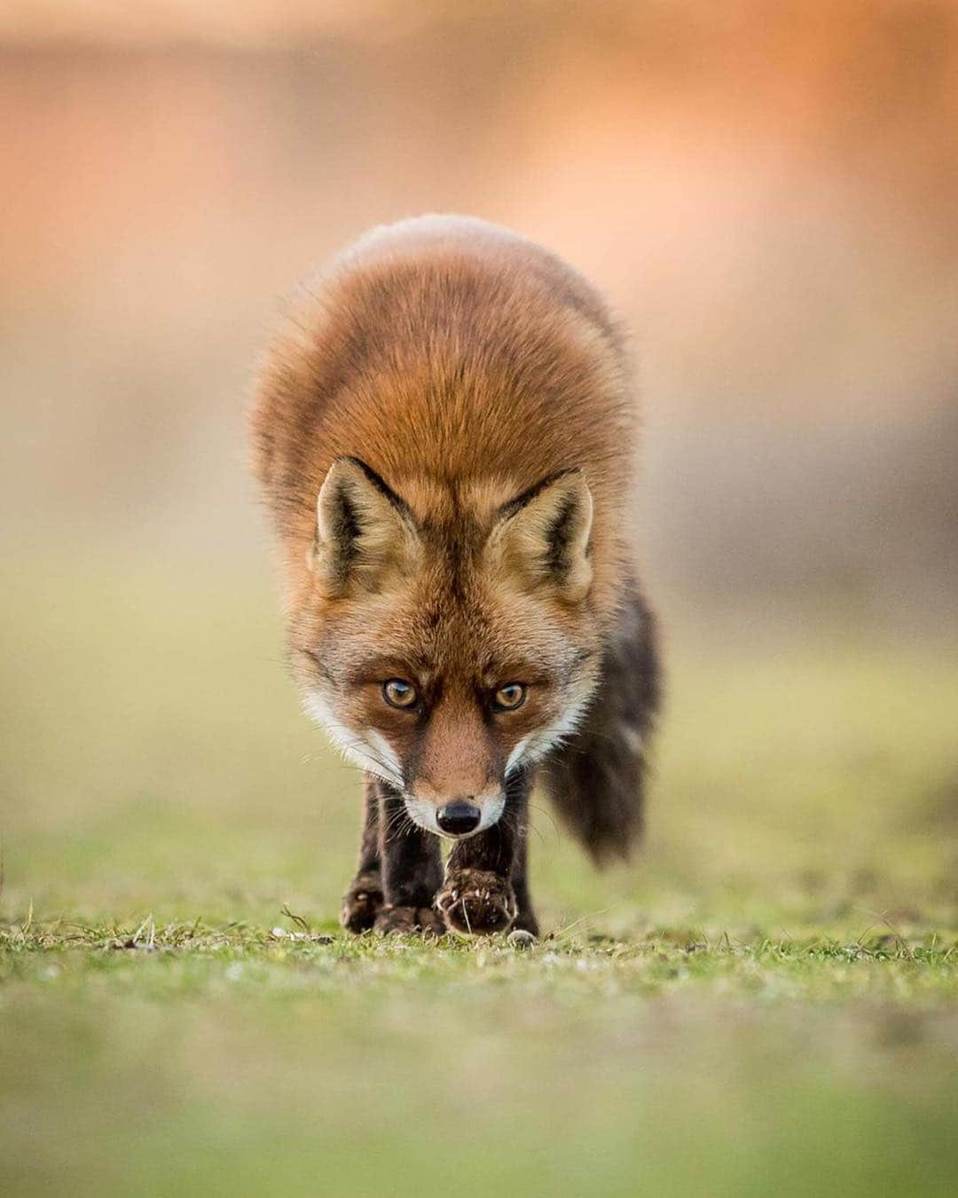
[[[414,817],[574,733],[636,576],[632,379],[581,276],[479,220],[374,230],[290,304],[253,430],[295,673]]]

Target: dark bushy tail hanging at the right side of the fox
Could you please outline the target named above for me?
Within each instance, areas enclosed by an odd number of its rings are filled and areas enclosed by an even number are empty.
[[[606,643],[601,682],[586,719],[544,767],[556,810],[596,861],[627,857],[642,833],[659,694],[655,621],[636,591]]]

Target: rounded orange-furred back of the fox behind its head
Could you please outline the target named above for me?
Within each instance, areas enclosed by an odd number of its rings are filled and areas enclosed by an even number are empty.
[[[632,557],[632,380],[599,296],[532,242],[462,218],[366,235],[291,303],[253,429],[293,592],[320,485],[350,455],[441,518],[453,489],[481,509],[580,467],[595,501],[592,601],[616,605]]]

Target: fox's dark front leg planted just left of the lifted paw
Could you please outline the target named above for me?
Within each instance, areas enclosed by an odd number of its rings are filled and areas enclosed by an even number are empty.
[[[439,841],[410,819],[402,795],[386,783],[378,788],[378,853],[382,907],[374,931],[441,934],[443,924],[432,909],[442,882]]]

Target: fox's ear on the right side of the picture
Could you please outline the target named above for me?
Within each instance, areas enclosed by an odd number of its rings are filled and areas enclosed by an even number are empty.
[[[592,582],[592,492],[581,470],[550,474],[499,509],[489,545],[527,587],[552,586],[569,603]]]

